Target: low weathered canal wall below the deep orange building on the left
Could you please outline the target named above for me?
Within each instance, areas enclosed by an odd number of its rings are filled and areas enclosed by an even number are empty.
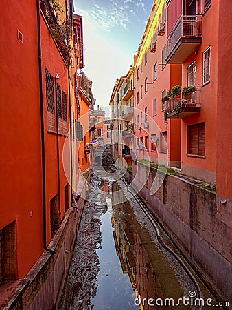
[[[49,249],[56,250],[56,254],[44,252],[4,310],[57,309],[71,264],[87,188],[84,180],[78,184],[78,194],[81,195],[76,204],[78,209],[71,208],[66,212],[60,228],[48,246]]]

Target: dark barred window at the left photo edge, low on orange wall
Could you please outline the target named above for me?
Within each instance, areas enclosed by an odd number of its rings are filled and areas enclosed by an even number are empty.
[[[16,221],[0,230],[0,284],[17,278]]]

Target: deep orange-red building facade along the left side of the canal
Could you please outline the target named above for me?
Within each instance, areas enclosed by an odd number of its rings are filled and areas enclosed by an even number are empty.
[[[70,28],[73,1],[59,1],[56,7],[38,0],[27,3],[27,12],[22,3],[1,3],[0,23],[5,29],[1,41],[7,48],[0,48],[0,285],[6,287],[8,281],[24,278],[43,254],[58,258],[59,249],[51,239],[61,226],[75,223],[70,208],[78,185],[78,141],[82,140],[76,125],[82,116],[78,105],[83,114],[91,105],[81,90],[76,99],[73,68],[76,62],[82,65],[83,48],[82,23],[78,33]],[[89,116],[87,123],[86,132]],[[71,243],[75,226],[67,229]],[[67,268],[69,258],[62,262]],[[59,285],[63,280],[61,275]]]

